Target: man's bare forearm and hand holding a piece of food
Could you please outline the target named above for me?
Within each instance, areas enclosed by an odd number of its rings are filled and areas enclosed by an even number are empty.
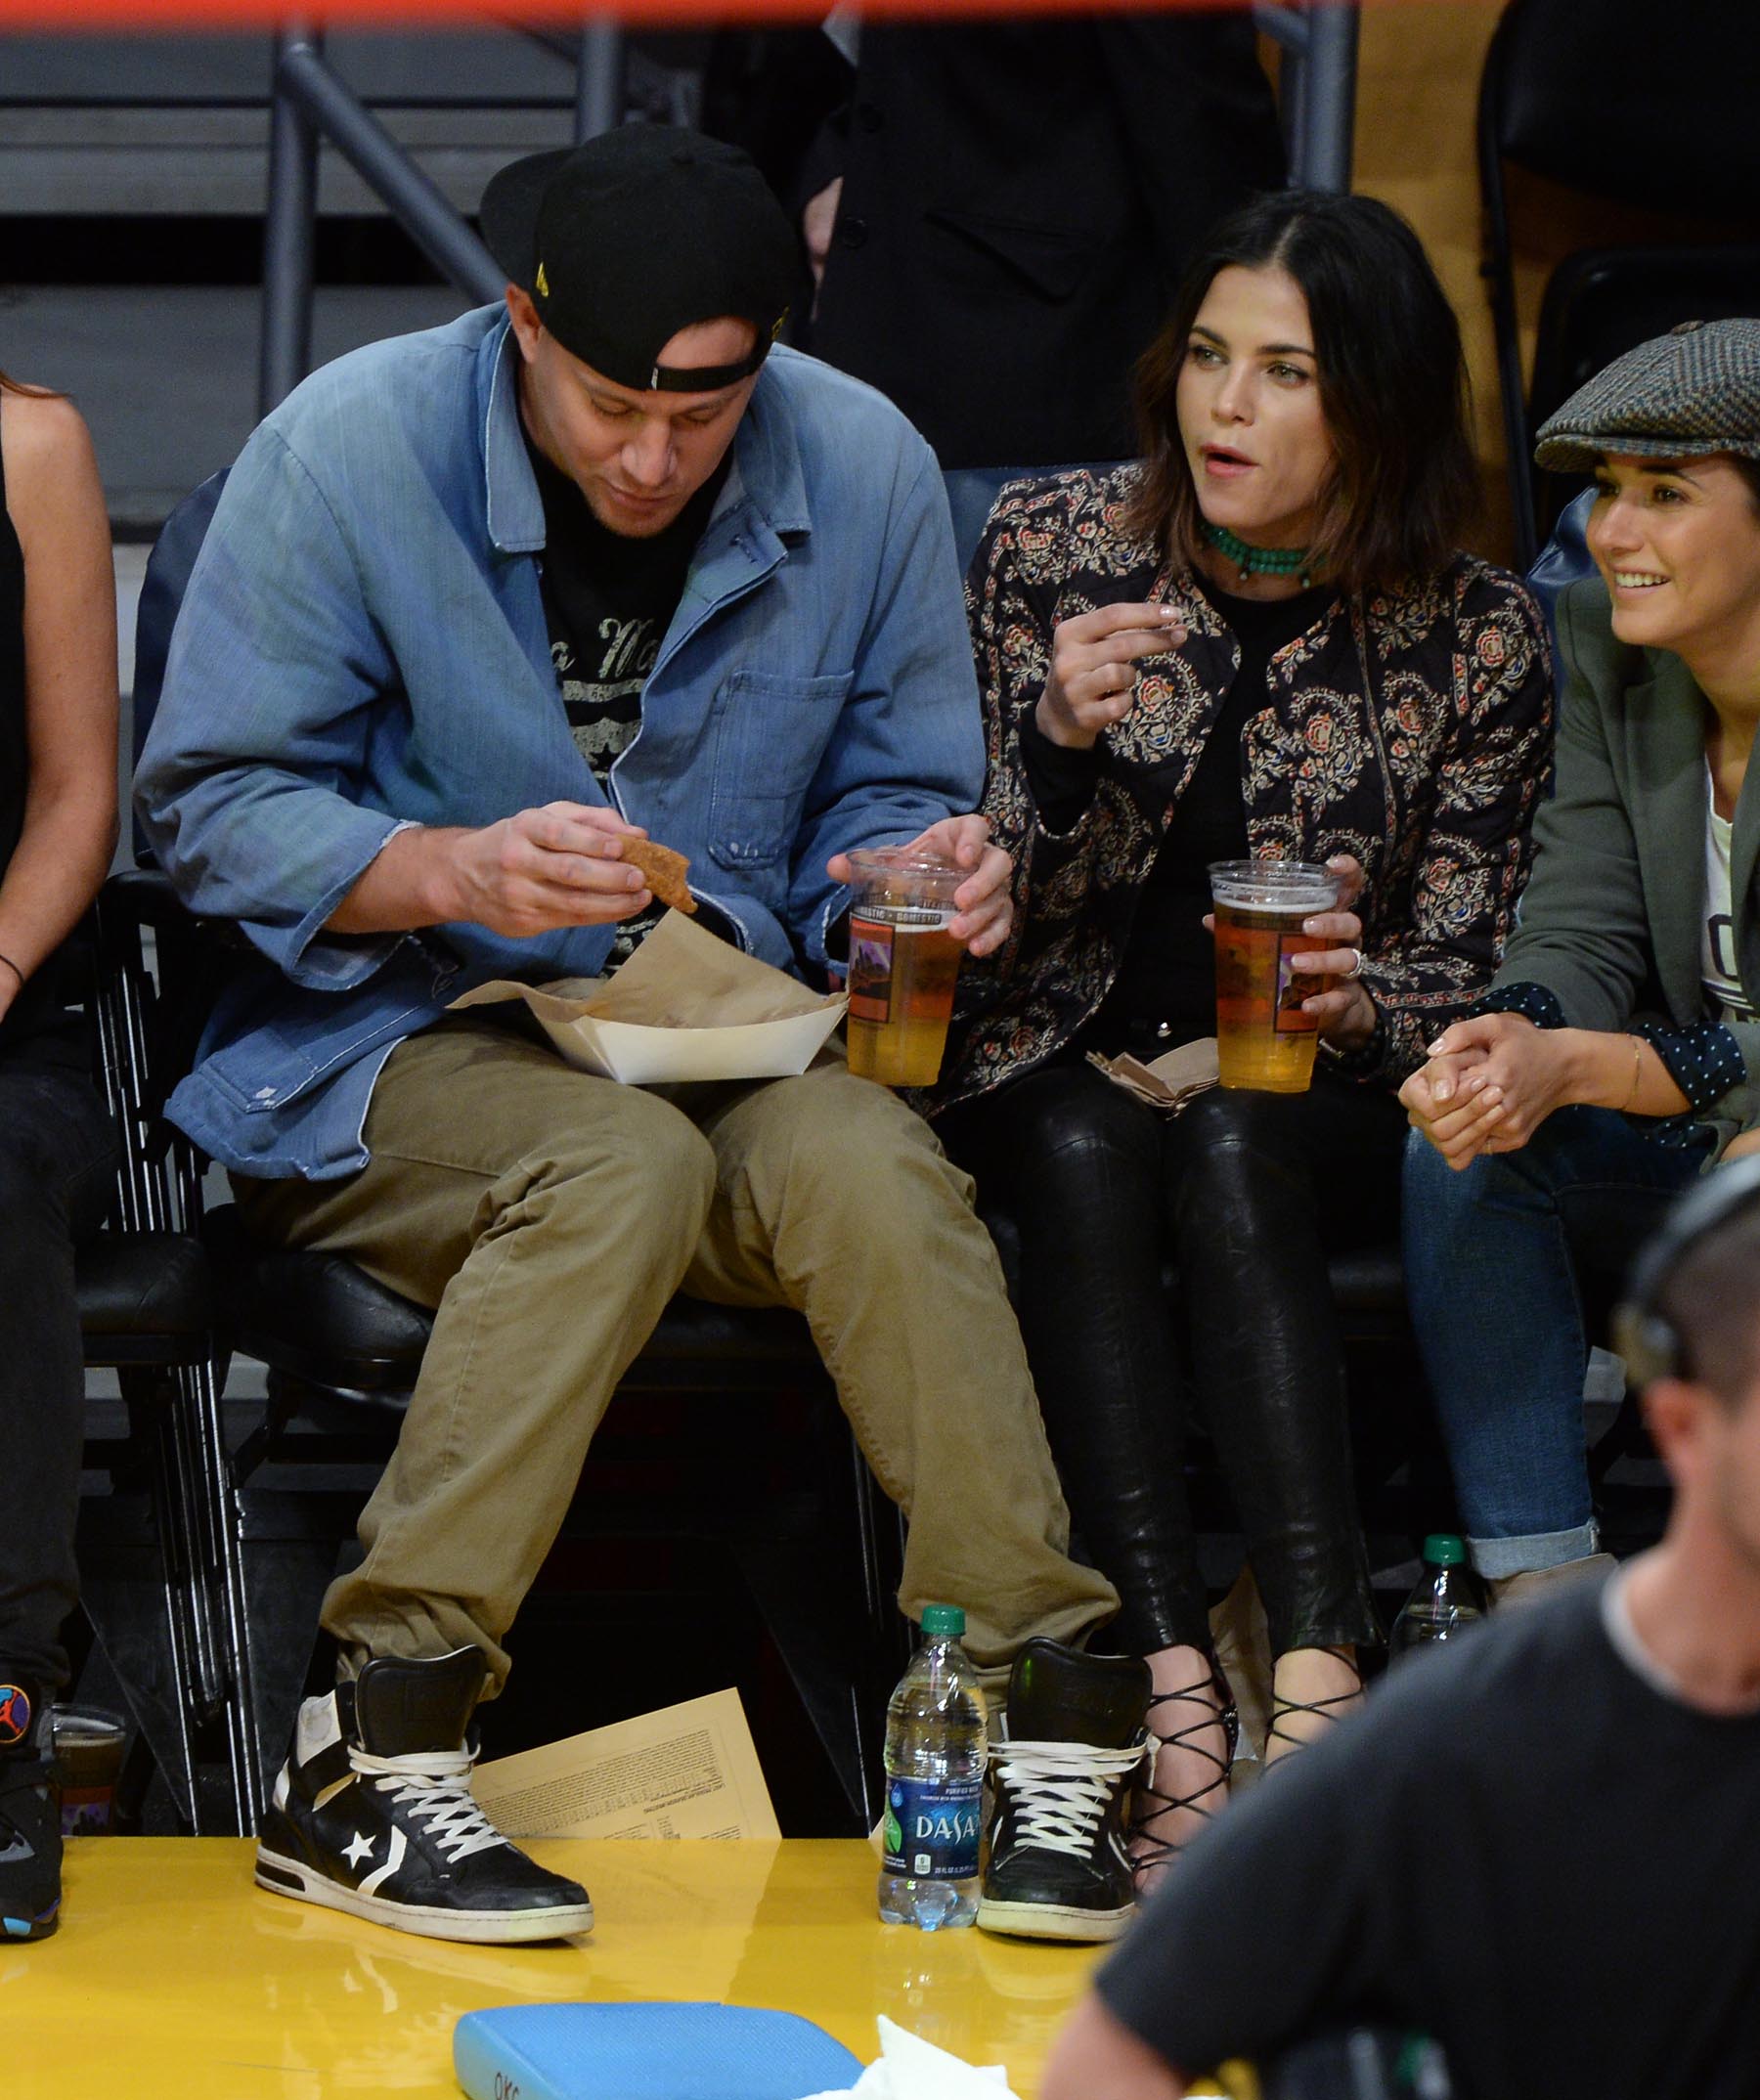
[[[332,932],[407,932],[468,920],[510,939],[603,926],[651,903],[622,859],[636,823],[590,802],[546,802],[500,823],[393,832],[326,922]]]

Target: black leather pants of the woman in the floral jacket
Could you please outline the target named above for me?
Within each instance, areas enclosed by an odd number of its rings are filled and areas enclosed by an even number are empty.
[[[1182,1455],[1208,1428],[1273,1653],[1380,1640],[1327,1254],[1397,1237],[1405,1115],[1315,1075],[1168,1121],[1052,1065],[939,1124],[1021,1233],[1021,1329],[1075,1529],[1138,1653],[1210,1646]]]

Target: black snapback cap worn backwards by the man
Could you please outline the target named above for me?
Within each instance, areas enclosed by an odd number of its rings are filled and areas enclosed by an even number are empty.
[[[750,378],[788,319],[794,229],[731,145],[626,124],[531,153],[489,178],[483,242],[571,357],[636,391],[710,393]],[[697,321],[735,315],[758,342],[737,365],[662,365]]]

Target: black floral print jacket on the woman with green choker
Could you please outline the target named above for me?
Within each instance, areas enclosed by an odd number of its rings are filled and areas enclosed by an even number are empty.
[[[1038,1065],[1098,1008],[1241,659],[1191,573],[1124,536],[1136,472],[1017,483],[972,565],[983,813],[1014,857],[1014,926],[998,956],[966,966],[933,1107]],[[1130,714],[1101,737],[1094,800],[1052,834],[1027,788],[1019,718],[1044,689],[1056,622],[1130,601],[1178,607],[1191,632],[1138,666]],[[1512,575],[1455,554],[1399,592],[1334,601],[1273,657],[1271,682],[1277,697],[1241,733],[1252,853],[1363,863],[1363,985],[1380,1023],[1338,1065],[1397,1088],[1489,983],[1527,880],[1552,760],[1546,628]]]

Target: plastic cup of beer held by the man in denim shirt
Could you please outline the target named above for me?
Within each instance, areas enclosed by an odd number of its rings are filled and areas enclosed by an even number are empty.
[[[882,1086],[935,1086],[964,956],[947,926],[970,869],[909,846],[872,846],[848,863],[848,1069]]]

